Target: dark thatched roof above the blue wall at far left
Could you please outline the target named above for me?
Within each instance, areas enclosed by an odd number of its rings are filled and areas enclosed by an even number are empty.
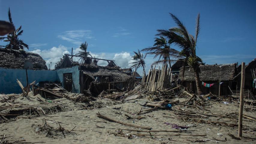
[[[0,67],[11,69],[24,69],[24,63],[30,61],[35,70],[47,70],[44,59],[32,52],[0,49]]]

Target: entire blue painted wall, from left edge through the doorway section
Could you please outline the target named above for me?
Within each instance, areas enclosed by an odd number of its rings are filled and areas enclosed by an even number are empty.
[[[41,81],[61,82],[63,86],[63,73],[72,73],[74,87],[73,93],[80,93],[78,66],[62,68],[58,70],[28,70],[29,83],[36,80],[36,84]],[[22,90],[17,83],[17,79],[26,85],[25,69],[5,69],[0,67],[0,94],[20,94]]]

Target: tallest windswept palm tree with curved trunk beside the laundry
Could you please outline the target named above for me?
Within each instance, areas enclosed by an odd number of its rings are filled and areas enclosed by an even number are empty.
[[[167,37],[169,44],[174,43],[181,48],[180,55],[185,57],[182,75],[184,76],[185,64],[193,67],[195,73],[197,93],[201,95],[203,94],[203,92],[200,83],[199,63],[202,62],[202,60],[196,55],[196,44],[200,31],[200,14],[197,15],[195,36],[188,33],[183,23],[175,15],[171,13],[170,15],[173,18],[174,22],[177,24],[177,27],[173,27],[168,30],[159,29],[157,30],[157,35]]]

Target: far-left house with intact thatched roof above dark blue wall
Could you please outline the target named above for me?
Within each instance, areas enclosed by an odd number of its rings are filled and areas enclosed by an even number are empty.
[[[0,49],[0,94],[21,93],[17,79],[26,85],[25,62],[33,64],[32,70],[27,70],[28,82],[58,81],[56,72],[48,70],[44,59],[32,52],[13,49]]]

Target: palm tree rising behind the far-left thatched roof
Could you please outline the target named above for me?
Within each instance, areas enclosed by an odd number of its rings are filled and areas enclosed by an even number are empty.
[[[11,17],[11,11],[9,8],[8,11],[8,17],[11,25],[14,26],[14,23],[12,22],[12,17]],[[29,49],[29,46],[25,44],[22,40],[20,40],[18,37],[22,35],[23,30],[21,30],[21,26],[18,29],[15,29],[13,32],[7,35],[7,37],[0,37],[0,41],[4,40],[8,42],[8,44],[5,46],[6,49],[24,49],[26,47]]]

